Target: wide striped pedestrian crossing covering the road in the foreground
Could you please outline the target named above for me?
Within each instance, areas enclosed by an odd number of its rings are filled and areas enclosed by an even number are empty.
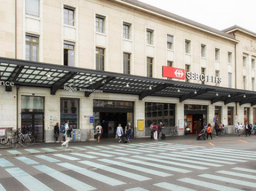
[[[12,190],[4,181],[6,176],[21,190],[55,190],[49,179],[62,190],[239,191],[256,187],[256,170],[245,167],[245,162],[256,161],[256,152],[162,142],[104,147],[0,158],[0,191]]]

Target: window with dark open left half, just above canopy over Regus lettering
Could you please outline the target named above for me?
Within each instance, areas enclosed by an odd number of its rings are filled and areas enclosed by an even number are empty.
[[[64,66],[74,66],[74,43],[64,43]]]

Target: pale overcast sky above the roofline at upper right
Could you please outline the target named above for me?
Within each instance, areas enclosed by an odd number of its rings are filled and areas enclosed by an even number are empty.
[[[223,30],[238,25],[256,33],[256,0],[139,0]]]

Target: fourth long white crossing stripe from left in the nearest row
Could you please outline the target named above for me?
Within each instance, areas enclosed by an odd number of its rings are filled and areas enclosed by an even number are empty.
[[[138,174],[127,172],[127,171],[122,171],[121,169],[118,169],[118,168],[105,166],[105,165],[94,163],[94,162],[91,162],[91,161],[79,161],[79,163],[82,163],[82,164],[85,164],[85,165],[88,165],[88,166],[93,166],[95,168],[100,168],[100,169],[103,169],[104,171],[111,172],[111,173],[121,175],[121,176],[124,176],[124,177],[129,177],[131,179],[135,179],[136,181],[147,181],[147,180],[151,179],[149,177],[141,176],[141,175],[138,175]]]

